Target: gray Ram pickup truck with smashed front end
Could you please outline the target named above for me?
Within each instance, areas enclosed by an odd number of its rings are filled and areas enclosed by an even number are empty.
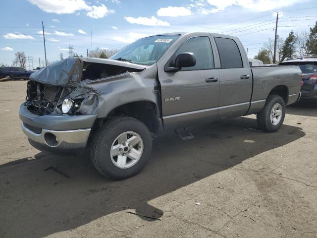
[[[68,58],[31,74],[19,117],[35,148],[89,148],[101,174],[124,179],[148,162],[151,133],[251,114],[261,129],[276,131],[301,80],[297,66],[250,67],[236,37],[162,34],[107,60]]]

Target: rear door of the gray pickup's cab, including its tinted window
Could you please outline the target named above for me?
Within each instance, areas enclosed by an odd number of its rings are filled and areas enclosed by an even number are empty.
[[[234,39],[222,37],[213,39],[220,60],[218,118],[243,116],[249,110],[252,94],[251,70],[247,65],[247,59],[243,59],[245,55],[241,54],[244,49],[239,49]]]

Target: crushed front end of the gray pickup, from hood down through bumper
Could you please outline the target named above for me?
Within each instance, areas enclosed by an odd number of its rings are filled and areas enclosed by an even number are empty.
[[[83,151],[105,93],[91,82],[124,77],[145,68],[113,61],[68,58],[31,74],[26,101],[19,111],[22,130],[31,145],[54,154]]]

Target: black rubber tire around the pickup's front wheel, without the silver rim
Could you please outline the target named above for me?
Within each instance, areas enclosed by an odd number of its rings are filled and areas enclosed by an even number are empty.
[[[133,131],[143,141],[140,159],[130,168],[121,169],[114,165],[110,157],[113,141],[121,133]],[[90,158],[99,173],[109,179],[126,179],[138,174],[148,163],[152,151],[152,137],[148,127],[140,120],[130,117],[109,119],[93,135],[90,146]]]

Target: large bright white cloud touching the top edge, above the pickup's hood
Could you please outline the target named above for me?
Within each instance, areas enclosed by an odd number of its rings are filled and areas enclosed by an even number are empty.
[[[37,5],[41,10],[48,13],[56,14],[72,14],[80,10],[87,11],[87,16],[92,18],[102,18],[114,10],[109,10],[105,4],[100,6],[89,5],[91,2],[85,0],[28,0],[30,3]],[[76,14],[78,15],[79,12]],[[54,22],[59,22],[58,19],[52,19]]]

